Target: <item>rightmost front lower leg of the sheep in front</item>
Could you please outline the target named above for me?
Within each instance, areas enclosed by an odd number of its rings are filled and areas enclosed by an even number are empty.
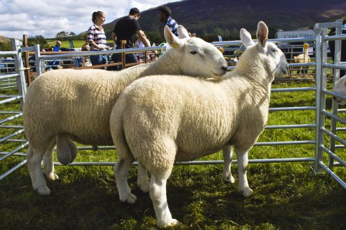
[[[248,151],[235,149],[238,160],[238,177],[239,177],[239,191],[245,198],[253,195],[253,190],[248,186],[248,178],[246,177],[246,169],[248,167]]]

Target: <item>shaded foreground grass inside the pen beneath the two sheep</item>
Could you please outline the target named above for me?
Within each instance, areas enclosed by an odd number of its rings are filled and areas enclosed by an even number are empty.
[[[221,179],[221,166],[179,167],[167,182],[167,199],[180,229],[346,228],[345,190],[307,165],[298,171],[289,164],[251,166],[249,199],[238,193],[237,180]],[[0,184],[1,229],[157,229],[149,194],[136,186],[136,168],[129,177],[136,204],[120,202],[111,171],[66,167],[60,181],[48,182],[48,197],[33,191],[25,170],[11,175]]]

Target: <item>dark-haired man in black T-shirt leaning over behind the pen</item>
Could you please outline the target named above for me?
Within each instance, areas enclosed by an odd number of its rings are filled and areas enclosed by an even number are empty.
[[[125,48],[133,48],[134,47],[134,35],[138,36],[138,39],[143,42],[143,44],[147,47],[150,46],[149,40],[145,37],[143,30],[140,28],[138,23],[138,19],[140,17],[140,11],[138,8],[131,8],[129,11],[129,16],[123,17],[120,19],[116,26],[114,26],[113,33],[111,34],[111,38],[116,43],[116,49],[121,49],[121,41],[126,40]],[[112,59],[114,62],[121,61],[121,54],[113,54]],[[138,62],[136,55],[128,54],[125,55],[126,63],[134,63]],[[118,66],[118,69],[121,69],[121,66]]]

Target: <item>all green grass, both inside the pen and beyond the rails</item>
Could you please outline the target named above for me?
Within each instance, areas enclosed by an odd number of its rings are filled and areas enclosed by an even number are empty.
[[[313,84],[273,84],[273,88],[305,86]],[[313,91],[271,94],[272,108],[314,104]],[[330,104],[327,98],[329,108]],[[19,105],[0,105],[0,111],[10,110],[19,110]],[[268,125],[313,124],[314,120],[314,111],[273,112]],[[326,127],[329,124],[327,119]],[[10,131],[2,129],[1,137],[6,132]],[[338,134],[346,139],[346,133]],[[266,129],[258,141],[314,140],[314,135],[313,128]],[[3,145],[1,151],[15,146]],[[345,160],[345,149],[337,154]],[[311,144],[255,146],[249,153],[250,159],[313,156]],[[17,158],[1,162],[0,173],[25,159]],[[221,153],[203,158],[221,159]],[[81,151],[76,161],[114,162],[116,153]],[[255,195],[248,199],[239,195],[237,179],[230,184],[221,178],[221,165],[175,166],[167,181],[167,199],[173,217],[183,225],[171,229],[346,229],[345,189],[327,173],[314,173],[311,166],[312,162],[251,164],[248,181]],[[232,169],[237,178],[237,165]],[[0,229],[158,229],[149,194],[136,186],[136,166],[129,174],[138,197],[134,205],[119,201],[111,166],[56,166],[56,171],[60,180],[48,182],[52,191],[48,197],[33,191],[26,166],[0,181]],[[345,168],[335,171],[346,180]]]

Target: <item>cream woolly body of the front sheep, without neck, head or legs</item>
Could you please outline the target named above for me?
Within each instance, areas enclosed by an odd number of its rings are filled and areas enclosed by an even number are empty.
[[[161,151],[160,146],[148,143],[174,140],[178,152],[175,160],[194,160],[228,142],[253,145],[266,123],[268,95],[254,106],[252,91],[257,89],[242,77],[220,82],[145,77],[124,90],[111,116],[121,117],[134,157],[145,161],[143,153],[152,153],[152,148]],[[155,161],[159,164],[160,159]]]

